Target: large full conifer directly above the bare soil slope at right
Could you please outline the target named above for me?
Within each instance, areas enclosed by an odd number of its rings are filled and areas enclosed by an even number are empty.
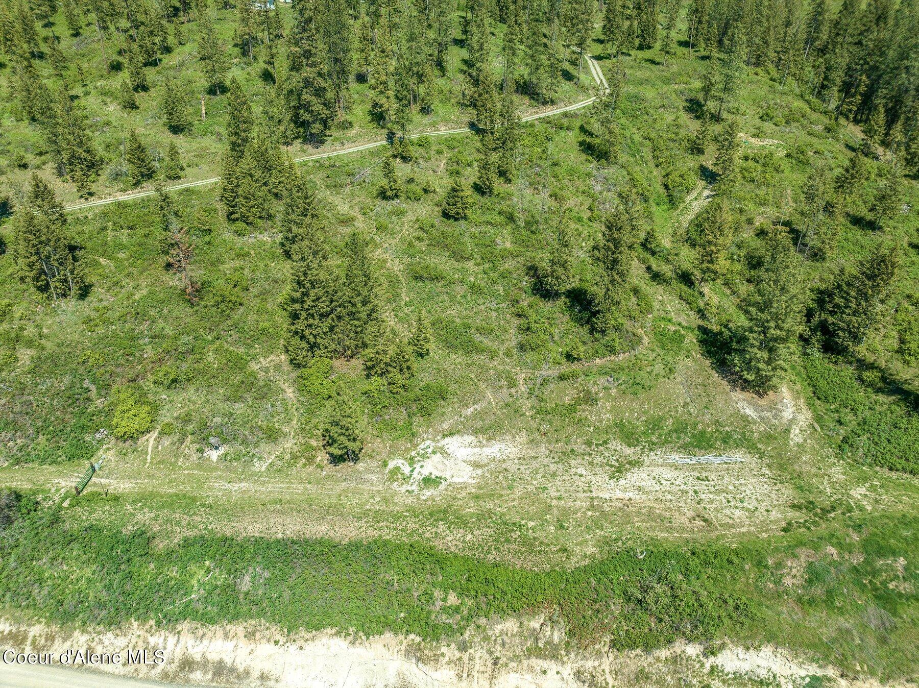
[[[733,329],[732,367],[755,391],[777,387],[798,344],[804,318],[798,261],[787,233],[774,228],[766,260],[740,301],[743,321]]]

